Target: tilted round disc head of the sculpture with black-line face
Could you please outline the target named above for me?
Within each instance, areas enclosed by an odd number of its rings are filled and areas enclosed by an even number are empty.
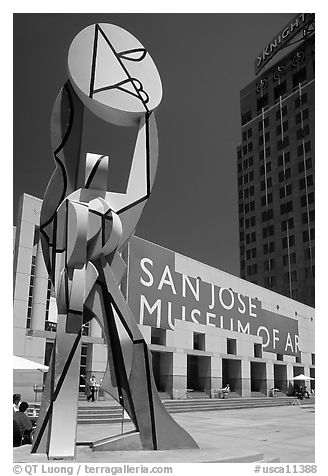
[[[161,79],[147,50],[109,23],[78,33],[68,52],[68,74],[85,106],[113,124],[137,124],[162,99]]]

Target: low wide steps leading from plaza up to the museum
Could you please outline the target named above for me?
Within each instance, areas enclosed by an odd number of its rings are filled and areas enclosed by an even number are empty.
[[[197,392],[193,392],[196,394]],[[202,393],[202,392],[200,392]],[[163,400],[164,406],[169,413],[191,413],[218,410],[239,410],[243,408],[261,408],[291,405],[294,397],[249,397],[241,398],[230,394],[224,399],[211,399],[200,395],[186,400]],[[315,398],[304,399],[300,401],[302,407],[314,405]],[[33,407],[36,410],[36,416],[39,413],[40,404],[31,404],[30,413]],[[96,401],[95,403],[87,402],[85,395],[83,399],[79,399],[78,407],[78,424],[95,424],[95,423],[122,423],[130,421],[126,412],[115,400]]]

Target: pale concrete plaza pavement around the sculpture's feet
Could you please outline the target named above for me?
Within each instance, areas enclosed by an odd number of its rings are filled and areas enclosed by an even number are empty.
[[[92,452],[77,447],[77,462],[158,463],[214,462],[244,456],[246,461],[279,458],[282,463],[314,463],[314,405],[289,405],[225,411],[176,413],[174,419],[196,440],[200,450]],[[124,432],[133,429],[124,423]],[[91,442],[121,433],[121,424],[81,424],[77,442]],[[252,460],[252,455],[254,459]],[[30,446],[14,448],[14,462],[45,462]]]

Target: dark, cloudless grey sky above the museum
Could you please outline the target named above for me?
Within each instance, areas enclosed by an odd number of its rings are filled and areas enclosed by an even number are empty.
[[[238,276],[236,147],[241,141],[240,90],[255,77],[258,53],[294,16],[15,14],[14,224],[21,194],[42,198],[55,168],[50,117],[55,98],[67,80],[70,43],[87,25],[113,23],[147,48],[163,85],[162,102],[155,112],[159,166],[136,235]],[[135,132],[90,120],[83,147],[114,158],[124,156],[127,162],[122,170],[113,170],[118,180],[120,172],[127,177]]]

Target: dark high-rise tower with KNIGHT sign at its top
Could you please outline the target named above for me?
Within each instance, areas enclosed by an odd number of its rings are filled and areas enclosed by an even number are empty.
[[[314,14],[298,14],[240,93],[241,277],[314,306]]]

